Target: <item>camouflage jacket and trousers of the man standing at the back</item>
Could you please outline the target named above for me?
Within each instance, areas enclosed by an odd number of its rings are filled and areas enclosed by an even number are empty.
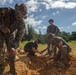
[[[47,28],[47,35],[52,33],[55,36],[57,36],[59,34],[59,32],[60,32],[59,28],[57,26],[53,25],[53,24],[49,25],[48,28]],[[47,39],[47,44],[48,44],[48,53],[50,55],[51,49],[50,49],[50,42],[49,42],[48,39]]]

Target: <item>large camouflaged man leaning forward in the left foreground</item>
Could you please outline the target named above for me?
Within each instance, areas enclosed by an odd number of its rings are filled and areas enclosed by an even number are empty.
[[[3,74],[5,69],[4,43],[8,51],[9,72],[16,75],[14,66],[15,50],[19,47],[25,31],[25,22],[23,19],[26,19],[26,14],[27,7],[25,4],[16,4],[15,9],[10,7],[0,8],[0,75]]]

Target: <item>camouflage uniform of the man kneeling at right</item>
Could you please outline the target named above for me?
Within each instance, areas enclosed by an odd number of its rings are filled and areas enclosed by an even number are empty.
[[[62,42],[62,47],[60,49],[59,43]],[[57,53],[57,59],[68,59],[69,52],[71,51],[71,47],[68,45],[68,43],[62,39],[61,37],[55,37],[55,43],[53,43],[56,47],[58,47],[60,50]]]

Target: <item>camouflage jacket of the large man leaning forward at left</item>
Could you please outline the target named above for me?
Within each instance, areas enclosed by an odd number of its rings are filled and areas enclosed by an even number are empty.
[[[12,8],[0,8],[0,26],[5,26],[10,30],[10,34],[16,31],[13,46],[17,48],[21,41],[24,31],[25,23],[22,19],[17,20],[15,16],[15,10]],[[9,37],[8,37],[9,38]]]

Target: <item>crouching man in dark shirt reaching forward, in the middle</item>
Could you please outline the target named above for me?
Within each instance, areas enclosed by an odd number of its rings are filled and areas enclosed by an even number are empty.
[[[37,39],[34,42],[28,42],[24,46],[24,51],[28,53],[28,56],[35,56],[36,52],[42,54],[42,52],[38,50],[38,44],[40,43],[41,43],[40,39]]]

